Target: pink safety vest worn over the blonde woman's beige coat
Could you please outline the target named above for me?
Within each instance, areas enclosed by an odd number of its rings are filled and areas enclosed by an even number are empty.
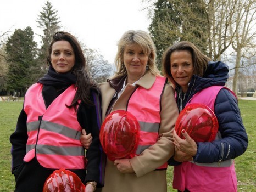
[[[159,138],[161,97],[166,84],[166,78],[157,76],[150,89],[138,87],[131,95],[127,111],[131,112],[140,123],[140,142],[136,154],[141,154]],[[167,162],[158,169],[166,169]]]

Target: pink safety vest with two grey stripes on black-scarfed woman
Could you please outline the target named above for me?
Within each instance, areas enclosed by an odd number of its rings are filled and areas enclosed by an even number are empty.
[[[86,168],[85,150],[80,142],[81,126],[74,108],[67,108],[76,93],[68,87],[46,109],[42,96],[43,85],[32,85],[25,95],[27,140],[24,161],[36,157],[46,168]]]

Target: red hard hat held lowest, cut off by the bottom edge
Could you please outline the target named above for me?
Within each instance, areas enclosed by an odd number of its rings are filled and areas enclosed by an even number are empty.
[[[81,192],[85,191],[85,185],[73,172],[63,168],[55,170],[43,185],[43,192]]]

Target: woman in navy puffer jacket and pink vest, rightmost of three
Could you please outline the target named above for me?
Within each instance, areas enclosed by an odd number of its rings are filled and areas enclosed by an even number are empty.
[[[191,42],[166,49],[163,73],[172,82],[179,111],[193,103],[207,105],[219,123],[212,142],[197,142],[183,129],[185,139],[174,131],[173,187],[179,191],[237,191],[234,159],[248,146],[236,95],[227,89],[229,67],[211,62]]]

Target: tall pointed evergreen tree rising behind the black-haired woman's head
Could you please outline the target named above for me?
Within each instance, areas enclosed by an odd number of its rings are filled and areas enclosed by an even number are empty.
[[[37,66],[40,69],[38,74],[36,74],[37,78],[40,78],[45,74],[48,69],[46,63],[48,47],[52,41],[52,36],[60,29],[58,11],[52,7],[52,4],[49,1],[46,1],[42,8],[43,10],[40,12],[37,19],[38,27],[43,30],[43,35],[41,36],[42,46],[39,50],[37,59]]]

